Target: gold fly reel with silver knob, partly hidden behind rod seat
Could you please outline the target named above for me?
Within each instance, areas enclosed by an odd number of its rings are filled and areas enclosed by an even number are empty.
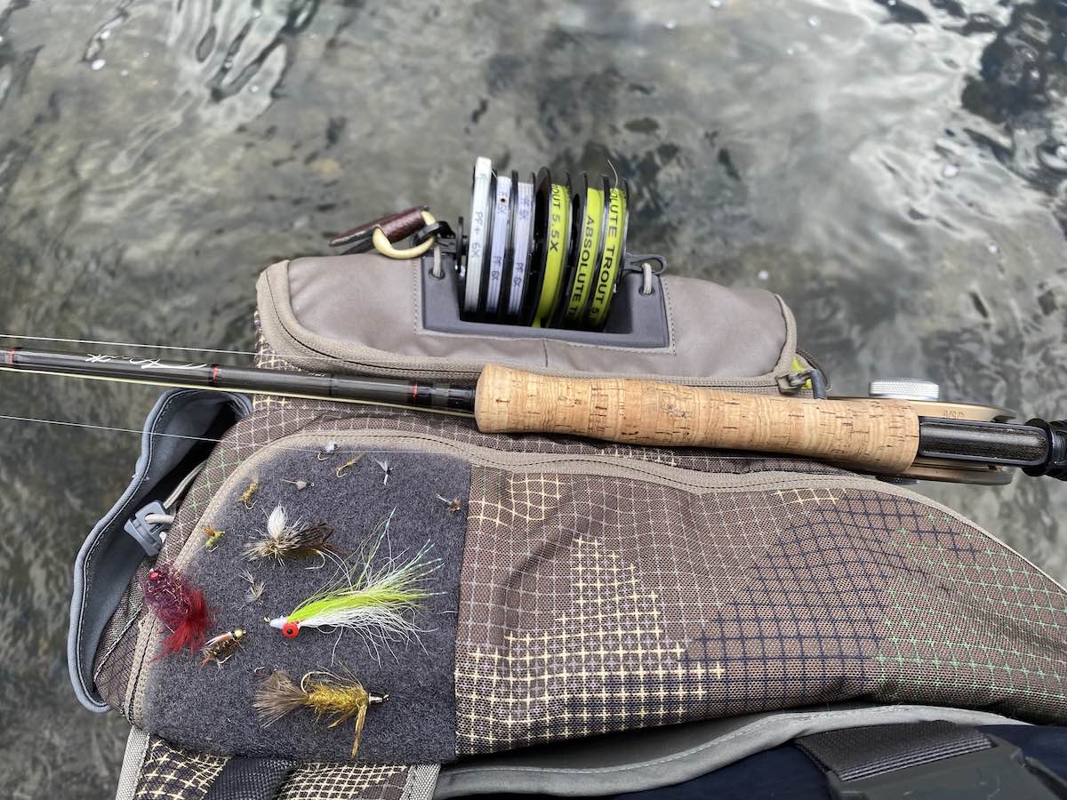
[[[913,379],[872,381],[869,397],[905,400],[922,417],[966,420],[972,422],[1007,422],[1015,412],[996,405],[955,403],[940,399],[940,387],[929,381]],[[862,399],[862,398],[842,398]],[[957,461],[919,455],[911,466],[896,478],[941,481],[945,483],[977,483],[1001,486],[1012,482],[1014,470],[982,461]]]

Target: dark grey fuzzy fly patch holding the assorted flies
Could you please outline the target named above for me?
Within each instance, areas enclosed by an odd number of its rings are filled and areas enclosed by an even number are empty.
[[[212,633],[242,627],[248,635],[221,669],[213,663],[200,667],[200,657],[188,651],[156,660],[145,695],[146,730],[207,752],[349,761],[352,722],[328,729],[315,722],[312,711],[300,709],[264,727],[252,707],[257,668],[282,668],[297,682],[313,670],[348,670],[367,689],[389,695],[367,711],[357,762],[436,764],[456,757],[456,624],[469,466],[437,454],[377,452],[337,478],[336,468],[350,458],[352,453],[338,452],[318,461],[315,452],[280,450],[257,470],[259,490],[251,511],[239,502],[242,484],[230,490],[217,515],[204,521],[225,534],[212,551],[197,551],[187,576],[214,609]],[[383,485],[384,473],[376,460],[386,458],[391,471]],[[284,479],[314,485],[298,491]],[[439,494],[459,498],[462,508],[450,512]],[[431,578],[437,594],[425,601],[415,618],[426,629],[419,642],[396,646],[395,656],[382,652],[379,662],[357,635],[346,631],[331,666],[337,633],[304,628],[286,639],[269,627],[264,617],[288,614],[334,574],[330,566],[304,569],[319,563],[316,560],[245,561],[245,544],[266,530],[267,515],[278,503],[290,519],[336,526],[331,541],[339,548],[354,548],[394,508],[394,554],[413,554],[432,541],[431,557],[441,558],[442,566]],[[200,537],[198,531],[193,535]],[[248,585],[239,576],[244,567],[267,581],[257,604],[245,604]]]

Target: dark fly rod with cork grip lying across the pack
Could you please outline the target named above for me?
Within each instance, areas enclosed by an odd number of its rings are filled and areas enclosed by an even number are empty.
[[[803,455],[879,475],[917,458],[1021,467],[1067,479],[1067,422],[920,416],[907,400],[803,399],[642,379],[562,378],[488,365],[449,383],[12,348],[0,369],[157,386],[402,405],[473,415],[484,433],[552,433],[628,445]]]

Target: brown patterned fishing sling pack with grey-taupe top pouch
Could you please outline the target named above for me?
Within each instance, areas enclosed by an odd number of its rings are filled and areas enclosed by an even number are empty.
[[[442,257],[274,265],[257,365],[471,381],[497,362],[810,394],[769,292],[635,272],[602,334],[500,332],[442,319]],[[334,528],[330,555],[250,561],[278,507]],[[408,636],[270,626],[383,521],[389,557],[428,547],[433,563]],[[203,591],[209,634],[245,631],[222,663],[162,652],[144,597],[160,564]],[[1065,609],[1063,588],[960,514],[827,463],[173,389],[78,557],[69,657],[81,702],[132,725],[120,798],[602,795],[818,732],[1064,723]],[[354,757],[352,722],[312,707],[265,726],[254,703],[274,670],[388,695]]]

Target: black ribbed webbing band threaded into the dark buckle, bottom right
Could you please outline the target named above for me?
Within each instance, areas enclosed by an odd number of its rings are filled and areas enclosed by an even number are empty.
[[[942,721],[846,727],[803,736],[795,743],[842,781],[858,781],[992,747],[980,731]]]

